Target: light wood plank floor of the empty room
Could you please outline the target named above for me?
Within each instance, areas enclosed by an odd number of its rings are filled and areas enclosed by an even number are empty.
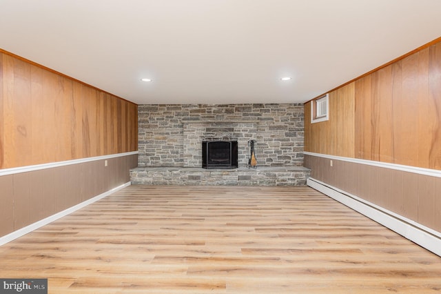
[[[308,187],[129,186],[0,264],[49,293],[441,291],[441,257]]]

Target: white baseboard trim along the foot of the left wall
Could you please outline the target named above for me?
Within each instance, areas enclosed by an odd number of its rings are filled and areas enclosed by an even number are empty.
[[[117,190],[121,190],[122,188],[125,188],[127,186],[130,186],[130,182],[127,182],[125,184],[122,184],[121,186],[118,186],[116,188],[108,190],[105,193],[102,193],[102,194],[97,195],[93,198],[90,198],[90,199],[86,200],[85,202],[81,202],[79,204],[76,204],[68,209],[60,211],[59,213],[55,213],[54,215],[51,215],[50,217],[46,217],[44,219],[39,220],[38,222],[34,222],[34,224],[30,224],[29,226],[25,226],[24,228],[20,228],[17,231],[14,231],[12,233],[9,233],[8,235],[0,237],[0,246],[2,246],[3,244],[6,244],[8,242],[11,242],[12,240],[17,239],[23,235],[26,235],[27,233],[30,233],[34,230],[37,230],[37,228],[41,228],[42,226],[45,226],[46,224],[50,224],[51,222],[54,222],[55,220],[60,219],[61,217],[64,217],[66,215],[70,215],[70,213],[73,213],[76,210],[79,210],[85,206],[88,206],[89,204],[97,202],[98,200],[103,199],[104,197],[106,197],[112,193],[115,193]]]

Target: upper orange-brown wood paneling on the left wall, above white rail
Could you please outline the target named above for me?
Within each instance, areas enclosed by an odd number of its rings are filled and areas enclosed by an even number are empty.
[[[0,168],[138,149],[136,104],[0,51]]]

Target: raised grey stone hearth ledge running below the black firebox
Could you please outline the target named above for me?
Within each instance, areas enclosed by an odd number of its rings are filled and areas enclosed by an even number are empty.
[[[309,169],[302,166],[205,169],[139,167],[130,170],[132,185],[305,186]]]

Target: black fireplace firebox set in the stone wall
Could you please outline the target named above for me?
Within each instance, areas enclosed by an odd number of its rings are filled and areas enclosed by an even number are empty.
[[[203,168],[237,168],[237,141],[202,141]]]

